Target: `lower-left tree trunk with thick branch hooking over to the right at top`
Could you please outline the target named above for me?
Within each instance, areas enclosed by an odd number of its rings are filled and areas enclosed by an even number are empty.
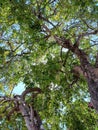
[[[28,105],[25,102],[25,96],[28,93],[34,94],[34,92],[36,94],[39,94],[39,93],[41,93],[41,89],[40,88],[28,88],[21,94],[19,110],[20,110],[22,116],[24,117],[28,130],[44,130],[44,128],[42,126],[42,121],[39,117],[39,114],[34,110],[33,106]],[[35,96],[37,96],[37,95],[35,95]],[[31,97],[31,98],[34,98],[34,97]]]

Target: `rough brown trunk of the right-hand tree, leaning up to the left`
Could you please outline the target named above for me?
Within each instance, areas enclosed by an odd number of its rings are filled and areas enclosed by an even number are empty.
[[[91,96],[91,102],[96,111],[98,111],[98,74],[96,74],[97,71],[94,71],[96,70],[96,67],[98,67],[98,54],[96,56],[95,66],[92,66],[88,60],[87,54],[79,49],[78,46],[72,44],[69,39],[58,37],[56,35],[54,36],[54,39],[60,46],[69,49],[79,58],[83,73],[86,73],[87,75],[86,80]]]

